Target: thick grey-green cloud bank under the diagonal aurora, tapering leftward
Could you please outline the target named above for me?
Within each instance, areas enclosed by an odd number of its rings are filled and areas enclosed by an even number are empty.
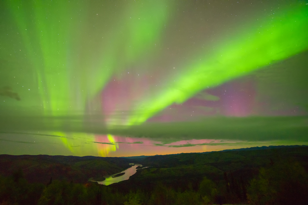
[[[109,133],[148,137],[163,144],[189,139],[307,141],[308,117],[211,117],[196,122],[145,123],[127,129],[113,129]]]

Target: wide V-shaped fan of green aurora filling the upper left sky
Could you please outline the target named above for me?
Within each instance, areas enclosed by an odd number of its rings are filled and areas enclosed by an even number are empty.
[[[145,50],[151,52],[160,40],[167,19],[165,1],[119,3],[119,14],[108,11],[111,3],[106,4],[8,3],[33,65],[45,115],[83,112],[113,74],[140,59]],[[99,14],[90,13],[94,6],[102,6]]]

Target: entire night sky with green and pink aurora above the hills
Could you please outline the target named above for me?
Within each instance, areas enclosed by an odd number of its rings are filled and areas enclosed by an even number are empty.
[[[308,1],[1,1],[0,154],[308,145]]]

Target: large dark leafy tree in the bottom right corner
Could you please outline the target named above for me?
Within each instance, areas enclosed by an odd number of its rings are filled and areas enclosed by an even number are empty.
[[[260,168],[248,188],[250,204],[308,204],[308,177],[298,162]]]

